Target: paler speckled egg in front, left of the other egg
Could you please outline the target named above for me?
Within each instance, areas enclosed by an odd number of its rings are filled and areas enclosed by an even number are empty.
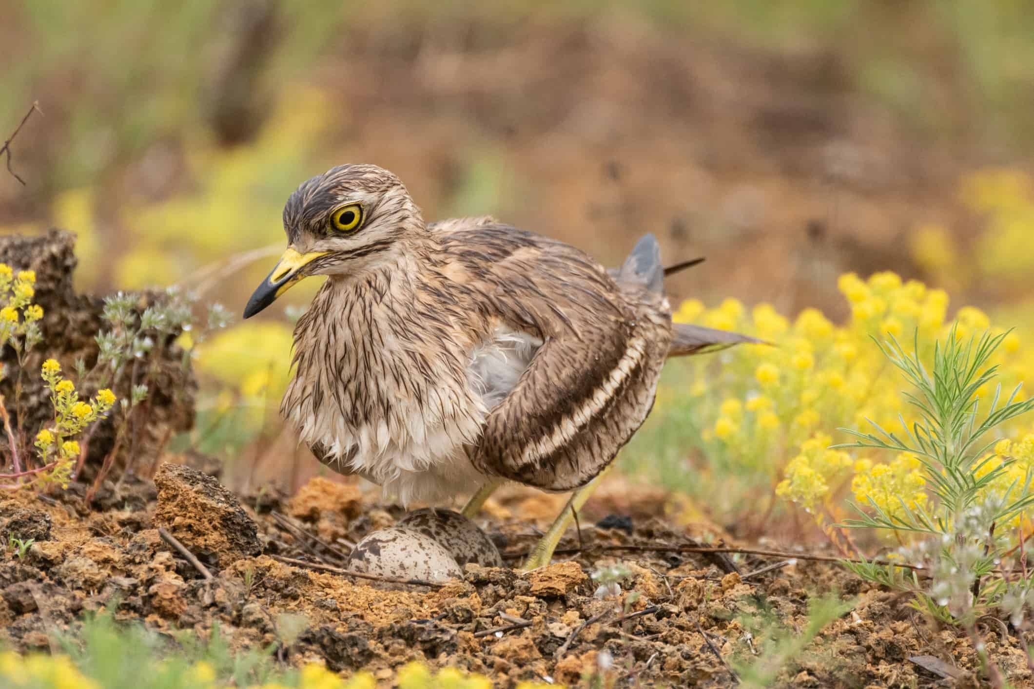
[[[456,560],[436,540],[397,526],[379,529],[356,543],[345,569],[377,576],[446,582],[461,576]]]

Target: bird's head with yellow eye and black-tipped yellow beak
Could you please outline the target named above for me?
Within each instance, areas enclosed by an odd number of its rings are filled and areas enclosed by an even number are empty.
[[[283,207],[287,249],[244,307],[249,318],[310,275],[357,275],[393,260],[423,227],[402,182],[376,165],[339,165],[302,183]]]

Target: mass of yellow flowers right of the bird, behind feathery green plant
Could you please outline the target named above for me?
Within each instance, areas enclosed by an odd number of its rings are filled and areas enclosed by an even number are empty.
[[[866,419],[881,428],[896,427],[902,418],[909,426],[915,420],[917,409],[900,394],[896,369],[874,338],[917,335],[919,355],[929,361],[938,339],[950,335],[965,342],[990,330],[1001,338],[989,363],[1010,389],[1034,374],[1034,351],[1021,346],[1020,333],[995,327],[979,309],[964,306],[949,318],[946,292],[894,273],[868,278],[848,273],[838,287],[850,309],[843,323],[817,309],[791,318],[771,305],[749,308],[731,299],[713,308],[697,300],[681,303],[673,314],[678,322],[748,333],[771,346],[748,345],[669,363],[655,413],[633,439],[627,464],[641,456],[636,473],[652,473],[699,496],[712,518],[735,523],[744,534],[763,532],[777,523],[770,515],[788,504],[801,508],[809,523],[851,557],[856,554],[851,535],[837,526],[850,516],[846,497],[854,496],[866,508],[872,498],[887,513],[902,510],[892,497],[899,492],[906,505],[921,502],[925,483],[914,458],[891,450],[826,452],[841,440],[834,429],[860,428]],[[984,381],[977,394],[990,400],[994,389]],[[1025,399],[1021,389],[1015,400]],[[1013,418],[1003,420],[996,433],[1024,430]],[[648,451],[640,452],[646,443]],[[744,515],[744,502],[758,507]],[[887,533],[902,542],[912,537]],[[879,533],[870,534],[886,544]]]

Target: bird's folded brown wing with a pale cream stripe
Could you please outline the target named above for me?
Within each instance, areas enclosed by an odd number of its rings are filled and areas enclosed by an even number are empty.
[[[470,460],[547,491],[584,486],[646,418],[671,340],[652,238],[615,277],[566,244],[489,225],[450,237],[479,303],[543,344],[493,407]],[[465,258],[464,258],[465,256]],[[616,279],[615,279],[616,278]]]

